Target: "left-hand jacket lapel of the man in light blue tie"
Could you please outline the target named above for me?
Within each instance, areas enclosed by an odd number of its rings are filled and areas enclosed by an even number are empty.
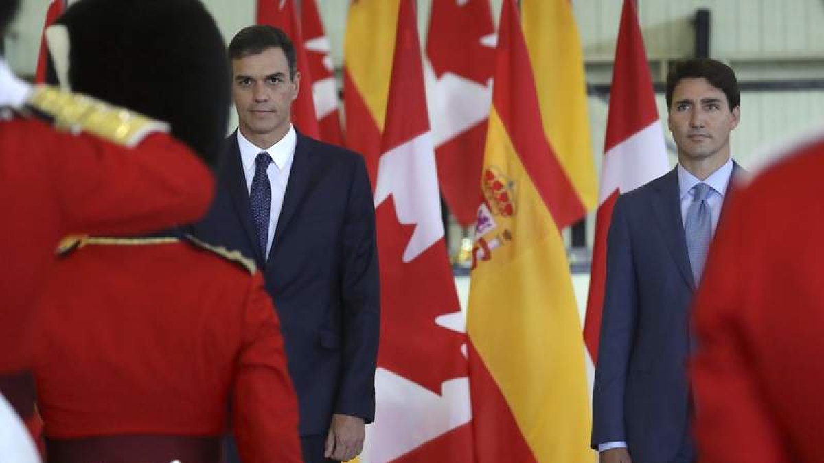
[[[690,257],[686,252],[684,224],[681,221],[681,200],[678,194],[677,171],[675,169],[670,171],[656,186],[652,201],[658,227],[661,228],[664,241],[667,242],[667,248],[672,255],[672,259],[675,260],[681,276],[684,277],[690,288],[695,289]]]

